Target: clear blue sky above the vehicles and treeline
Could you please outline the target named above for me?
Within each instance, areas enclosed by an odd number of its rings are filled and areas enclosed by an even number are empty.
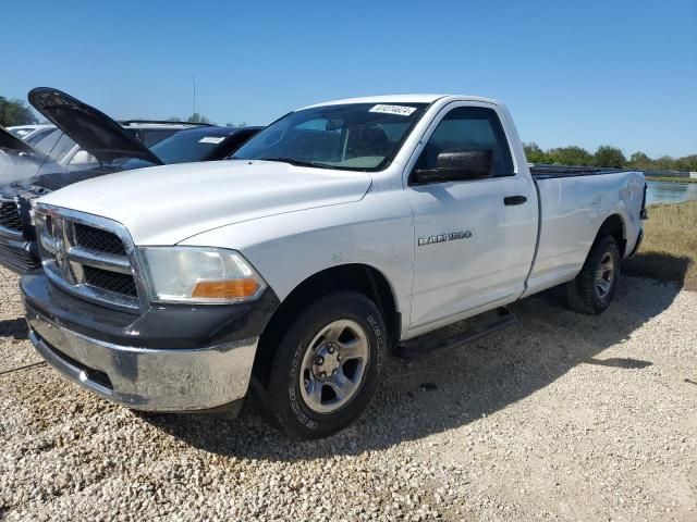
[[[269,123],[372,94],[503,100],[526,141],[697,153],[697,1],[16,1],[0,95]]]

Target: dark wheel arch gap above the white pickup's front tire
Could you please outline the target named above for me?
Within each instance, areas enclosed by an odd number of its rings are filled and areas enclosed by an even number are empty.
[[[283,333],[293,319],[307,304],[322,296],[341,290],[353,290],[371,299],[382,312],[388,331],[388,343],[399,340],[402,316],[398,309],[394,288],[388,277],[375,266],[347,263],[321,270],[299,283],[283,299],[259,337],[253,378],[268,383],[271,363]]]

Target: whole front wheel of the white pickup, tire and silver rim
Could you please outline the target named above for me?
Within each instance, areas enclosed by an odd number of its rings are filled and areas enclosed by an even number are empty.
[[[370,299],[354,291],[319,299],[285,332],[260,407],[298,438],[340,431],[368,405],[386,344],[384,321]]]

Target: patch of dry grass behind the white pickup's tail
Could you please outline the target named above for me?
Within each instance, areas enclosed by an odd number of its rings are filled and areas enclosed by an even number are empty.
[[[697,201],[649,207],[644,234],[639,251],[623,263],[624,272],[697,290]]]

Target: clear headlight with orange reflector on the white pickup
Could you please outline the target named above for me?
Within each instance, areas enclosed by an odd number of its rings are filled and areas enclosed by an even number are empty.
[[[261,276],[233,250],[145,247],[140,252],[156,301],[242,302],[258,298],[266,289]]]

